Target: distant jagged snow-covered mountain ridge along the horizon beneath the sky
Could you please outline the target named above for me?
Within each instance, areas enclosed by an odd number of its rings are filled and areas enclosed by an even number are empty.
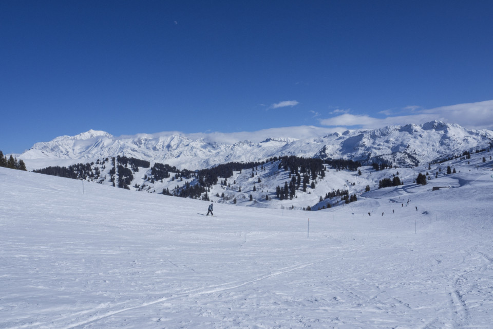
[[[251,136],[255,134],[253,132]],[[18,158],[26,161],[30,168],[44,167],[46,160],[53,163],[73,160],[75,163],[117,155],[189,170],[285,155],[352,159],[361,161],[363,165],[387,162],[399,167],[411,167],[493,146],[492,131],[467,130],[458,124],[441,121],[374,130],[347,130],[323,136],[314,134],[313,137],[303,138],[288,135],[289,129],[286,129],[286,136],[267,137],[261,142],[226,142],[207,138],[207,135],[200,138],[179,134],[115,137],[104,131],[89,130],[75,136],[60,136],[48,142],[35,143]]]

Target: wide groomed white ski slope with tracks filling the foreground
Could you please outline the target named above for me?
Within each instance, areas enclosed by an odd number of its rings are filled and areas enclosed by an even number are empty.
[[[0,168],[0,327],[491,328],[491,174],[211,217],[198,200]]]

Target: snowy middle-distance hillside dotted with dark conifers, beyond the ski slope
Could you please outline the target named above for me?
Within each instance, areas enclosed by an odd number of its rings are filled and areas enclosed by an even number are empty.
[[[183,195],[183,190],[190,186],[206,186],[195,173],[191,176],[189,172],[172,171],[169,172],[168,177],[161,178],[162,175],[161,177],[153,175],[154,168],[130,166],[127,160],[119,162],[120,157],[98,159],[96,162],[89,163],[84,166],[86,168],[84,173],[79,172],[74,178],[119,186],[119,175],[116,173],[119,172],[120,166],[124,166],[132,169],[127,188],[136,191],[210,199],[217,203],[248,207],[298,210],[310,207],[312,210],[317,210],[342,206],[345,204],[343,192],[347,192],[348,196],[359,196],[367,188],[377,189],[383,179],[399,177],[404,184],[409,184],[414,182],[416,176],[421,173],[426,175],[430,185],[437,185],[440,183],[435,179],[447,175],[447,167],[456,171],[470,170],[477,166],[491,168],[493,161],[489,150],[473,153],[473,155],[475,156],[472,159],[463,156],[414,168],[394,167],[378,171],[375,171],[372,166],[359,167],[355,171],[339,170],[330,164],[324,164],[324,172],[318,172],[315,177],[313,174],[304,173],[306,168],[298,166],[286,168],[282,160],[272,160],[262,162],[258,166],[248,167],[248,169],[232,171],[231,176],[218,177],[217,184],[207,186],[195,196],[187,193]],[[485,162],[482,161],[483,157],[485,157]],[[130,170],[128,172],[130,173]],[[52,174],[58,175],[56,172]],[[280,197],[276,189],[285,189],[293,178],[296,180],[297,175],[300,180],[305,180],[304,176],[307,175],[309,179],[306,188],[300,185],[295,188],[293,196]]]

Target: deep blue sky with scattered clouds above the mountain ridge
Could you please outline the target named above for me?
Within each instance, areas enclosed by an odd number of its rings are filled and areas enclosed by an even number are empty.
[[[490,1],[2,1],[0,150],[115,136],[493,127]]]

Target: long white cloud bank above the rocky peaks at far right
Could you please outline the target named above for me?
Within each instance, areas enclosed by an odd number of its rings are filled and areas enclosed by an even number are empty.
[[[388,125],[423,124],[438,120],[446,123],[457,123],[468,129],[493,128],[493,100],[430,109],[423,109],[420,106],[406,106],[404,110],[408,114],[387,116],[386,118],[345,113],[320,120],[320,124],[327,126],[361,126],[366,129],[375,129]]]

